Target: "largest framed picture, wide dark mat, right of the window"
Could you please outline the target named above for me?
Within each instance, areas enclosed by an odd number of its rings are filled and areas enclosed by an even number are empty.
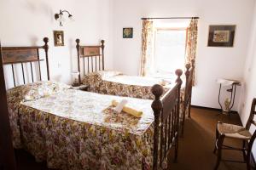
[[[235,25],[209,26],[208,47],[233,47],[235,31]]]

